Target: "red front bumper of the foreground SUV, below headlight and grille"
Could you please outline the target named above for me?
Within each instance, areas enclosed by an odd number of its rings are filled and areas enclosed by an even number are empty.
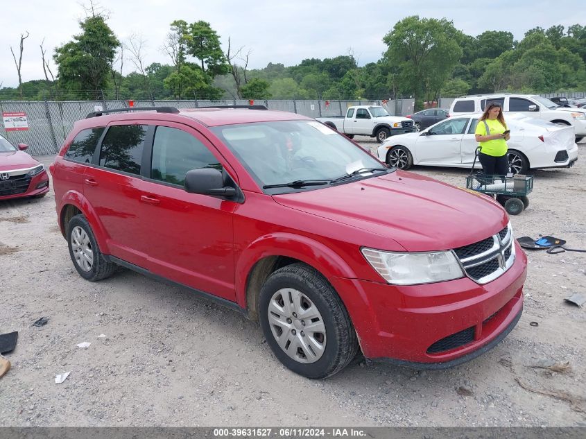
[[[523,309],[527,259],[515,245],[515,263],[484,285],[467,277],[415,286],[346,279],[347,288],[365,300],[363,309],[347,304],[364,356],[445,368],[499,343]]]

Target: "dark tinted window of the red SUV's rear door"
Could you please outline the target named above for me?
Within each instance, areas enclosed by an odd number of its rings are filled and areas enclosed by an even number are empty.
[[[146,125],[111,126],[102,141],[100,166],[140,174]]]

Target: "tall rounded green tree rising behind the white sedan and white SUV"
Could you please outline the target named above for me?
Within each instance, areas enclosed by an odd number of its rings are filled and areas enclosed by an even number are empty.
[[[462,56],[458,42],[462,34],[446,19],[406,17],[398,21],[383,41],[388,46],[385,58],[400,69],[406,92],[415,98],[415,111],[422,110],[423,96],[449,78]]]

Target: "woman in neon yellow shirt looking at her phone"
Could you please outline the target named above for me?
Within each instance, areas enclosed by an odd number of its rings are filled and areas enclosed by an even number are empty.
[[[479,160],[485,175],[506,175],[508,173],[507,140],[510,132],[507,128],[503,109],[498,102],[488,103],[479,119],[476,130],[479,142]]]

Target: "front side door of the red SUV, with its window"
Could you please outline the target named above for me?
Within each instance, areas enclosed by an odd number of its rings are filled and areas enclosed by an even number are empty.
[[[197,130],[161,122],[146,161],[137,214],[148,270],[236,301],[232,221],[239,204],[184,190],[187,171],[221,169],[223,157]]]

